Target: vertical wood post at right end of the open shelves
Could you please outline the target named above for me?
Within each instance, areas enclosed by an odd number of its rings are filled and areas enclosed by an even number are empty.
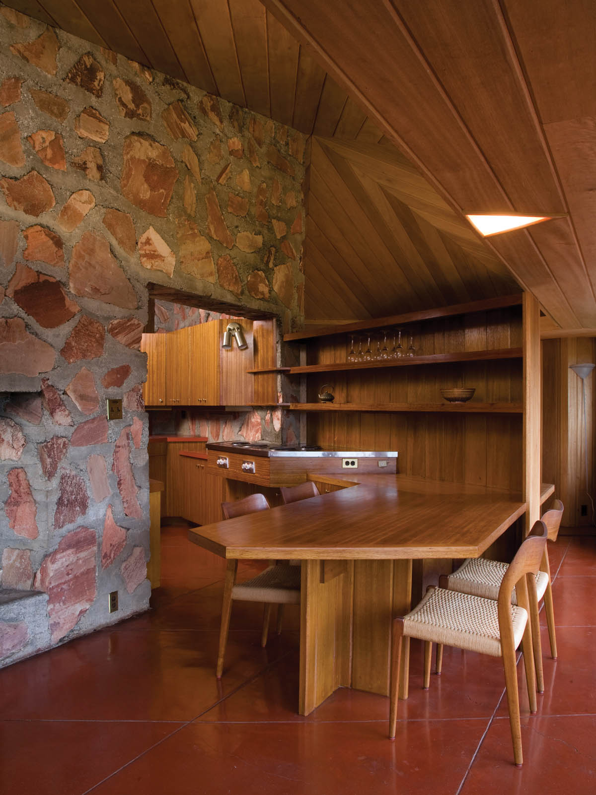
[[[540,304],[524,293],[524,500],[526,533],[540,519]]]

